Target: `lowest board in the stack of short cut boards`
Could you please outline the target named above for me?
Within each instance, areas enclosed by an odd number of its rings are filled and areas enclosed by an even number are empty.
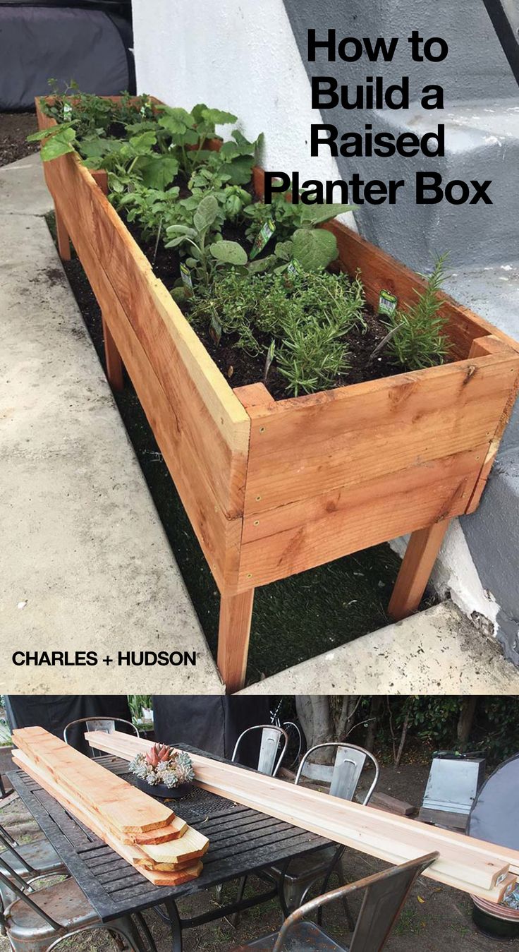
[[[121,840],[106,829],[106,825],[100,821],[99,817],[87,810],[83,804],[68,798],[66,793],[44,767],[34,764],[26,754],[19,750],[13,752],[13,761],[18,767],[25,770],[26,773],[29,773],[29,776],[39,783],[58,803],[61,803],[72,816],[81,823],[85,823],[88,829],[99,837],[103,843],[106,843],[107,846],[114,849],[126,863],[138,869],[150,883],[154,885],[180,885],[181,883],[187,883],[200,876],[202,872],[202,863],[200,860],[194,863],[189,861],[182,867],[179,866],[176,870],[172,871],[147,868],[144,864],[144,855],[141,854],[138,847],[132,847],[122,843]]]

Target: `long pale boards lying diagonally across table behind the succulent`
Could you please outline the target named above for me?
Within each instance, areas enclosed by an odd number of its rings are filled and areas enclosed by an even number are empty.
[[[85,736],[92,747],[125,760],[147,752],[151,746],[148,741],[118,731],[93,731]],[[339,800],[244,770],[237,764],[221,764],[197,754],[191,754],[191,760],[195,783],[202,789],[388,863],[406,863],[438,852],[438,859],[424,873],[438,883],[490,902],[503,902],[517,883],[517,850]]]

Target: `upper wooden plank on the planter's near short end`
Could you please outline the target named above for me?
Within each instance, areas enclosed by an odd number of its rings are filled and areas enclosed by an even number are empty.
[[[245,516],[489,446],[518,374],[510,349],[248,407]]]

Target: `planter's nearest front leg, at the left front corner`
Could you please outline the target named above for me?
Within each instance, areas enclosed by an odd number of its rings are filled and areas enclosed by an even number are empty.
[[[253,602],[254,588],[221,596],[217,663],[227,694],[245,684]]]

